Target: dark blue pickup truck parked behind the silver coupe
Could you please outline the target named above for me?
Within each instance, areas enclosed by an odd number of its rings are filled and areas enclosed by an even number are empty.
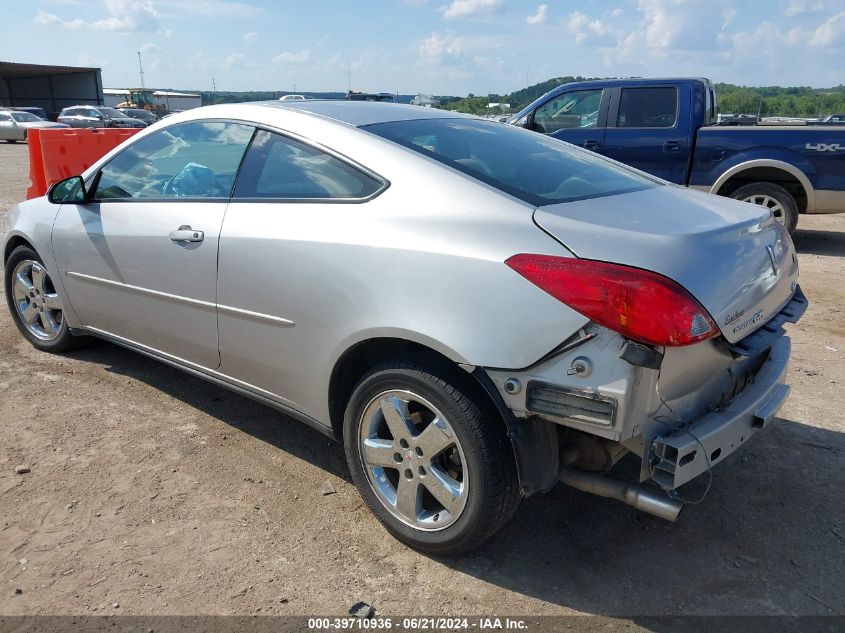
[[[769,207],[790,232],[800,213],[845,212],[845,128],[716,125],[708,79],[564,84],[515,125],[670,182]]]

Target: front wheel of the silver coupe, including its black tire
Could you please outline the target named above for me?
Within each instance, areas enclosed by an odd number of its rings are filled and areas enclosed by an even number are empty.
[[[43,352],[67,352],[90,338],[70,333],[64,305],[44,262],[28,246],[12,251],[5,265],[6,303],[24,338]]]

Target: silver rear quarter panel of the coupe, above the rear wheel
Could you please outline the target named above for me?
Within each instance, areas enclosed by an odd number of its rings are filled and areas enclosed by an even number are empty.
[[[513,368],[586,323],[504,263],[519,252],[569,255],[534,225],[533,207],[369,134],[320,121],[304,132],[390,186],[362,204],[229,206],[218,301],[295,326],[221,312],[221,371],[328,420],[335,363],[362,341],[396,337],[458,363]]]

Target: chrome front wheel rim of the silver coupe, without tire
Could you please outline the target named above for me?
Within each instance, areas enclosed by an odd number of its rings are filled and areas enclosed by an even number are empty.
[[[62,302],[47,269],[25,259],[15,267],[12,297],[24,327],[37,339],[52,341],[62,329]]]

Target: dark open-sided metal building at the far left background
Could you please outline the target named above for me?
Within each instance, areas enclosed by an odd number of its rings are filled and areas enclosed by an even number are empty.
[[[0,106],[36,106],[58,113],[80,104],[103,104],[99,68],[0,61]]]

